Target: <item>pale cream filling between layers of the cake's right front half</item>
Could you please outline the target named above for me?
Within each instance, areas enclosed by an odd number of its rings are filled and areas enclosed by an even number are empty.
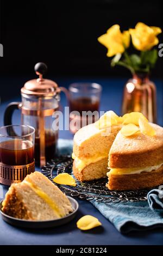
[[[142,167],[142,168],[111,168],[110,172],[107,173],[109,174],[115,174],[115,175],[130,175],[130,174],[140,174],[142,172],[152,172],[152,170],[157,170],[162,166],[163,163],[160,163],[155,166],[147,166],[147,167]]]

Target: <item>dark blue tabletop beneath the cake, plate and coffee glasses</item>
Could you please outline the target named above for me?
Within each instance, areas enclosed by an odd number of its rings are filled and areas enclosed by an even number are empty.
[[[17,81],[18,78],[17,78]],[[76,81],[97,82],[103,86],[101,110],[114,110],[117,114],[121,113],[121,100],[124,83],[127,79],[109,78],[87,78],[86,80],[77,78],[58,78],[60,86],[68,87],[68,84]],[[8,93],[9,79],[1,79],[0,96]],[[158,92],[158,124],[163,126],[162,115],[162,81],[156,80]],[[2,91],[3,88],[3,91]],[[14,94],[13,94],[14,95]],[[18,90],[16,97],[11,100],[1,102],[0,105],[0,125],[3,125],[3,113],[7,104],[11,101],[20,101]],[[11,96],[11,95],[10,95]],[[11,98],[11,97],[10,97]],[[66,106],[65,96],[61,96],[61,106]],[[13,124],[20,123],[20,112],[15,111]],[[60,138],[72,139],[73,135],[69,131],[60,131]],[[0,185],[0,195],[5,196],[8,187]],[[163,230],[160,228],[148,231],[132,231],[127,235],[119,233],[106,218],[86,201],[78,200],[79,211],[70,223],[52,229],[31,230],[12,227],[0,218],[0,245],[162,245]],[[102,222],[102,227],[87,231],[81,231],[76,227],[77,220],[83,215],[93,215]]]

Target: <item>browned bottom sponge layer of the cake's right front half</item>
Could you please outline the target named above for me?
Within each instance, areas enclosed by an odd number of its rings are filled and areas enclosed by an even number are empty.
[[[109,174],[109,182],[106,186],[109,190],[126,191],[152,188],[161,184],[163,184],[163,164],[159,169],[152,170],[152,172],[131,175]]]

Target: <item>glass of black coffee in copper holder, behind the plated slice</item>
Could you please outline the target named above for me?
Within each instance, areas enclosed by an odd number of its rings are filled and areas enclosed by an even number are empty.
[[[0,127],[0,183],[21,182],[34,172],[35,129],[26,125]]]

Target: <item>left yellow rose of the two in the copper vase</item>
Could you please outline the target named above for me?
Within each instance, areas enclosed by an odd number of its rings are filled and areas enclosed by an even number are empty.
[[[128,31],[121,33],[120,26],[114,25],[108,29],[106,34],[99,36],[98,41],[108,48],[108,57],[117,53],[123,53],[130,45],[130,34]]]

